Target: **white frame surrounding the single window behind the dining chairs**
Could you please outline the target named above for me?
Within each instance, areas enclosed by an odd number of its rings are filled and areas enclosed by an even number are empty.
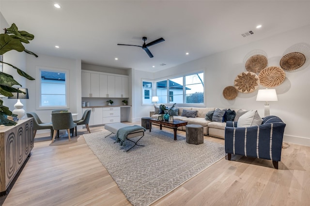
[[[51,68],[51,67],[42,67],[36,66],[36,109],[37,110],[45,110],[45,109],[69,109],[70,105],[70,95],[69,95],[69,70],[67,69],[60,69],[60,68]],[[41,71],[47,72],[56,72],[56,73],[65,73],[65,87],[66,87],[66,104],[60,106],[42,106],[41,105]]]

